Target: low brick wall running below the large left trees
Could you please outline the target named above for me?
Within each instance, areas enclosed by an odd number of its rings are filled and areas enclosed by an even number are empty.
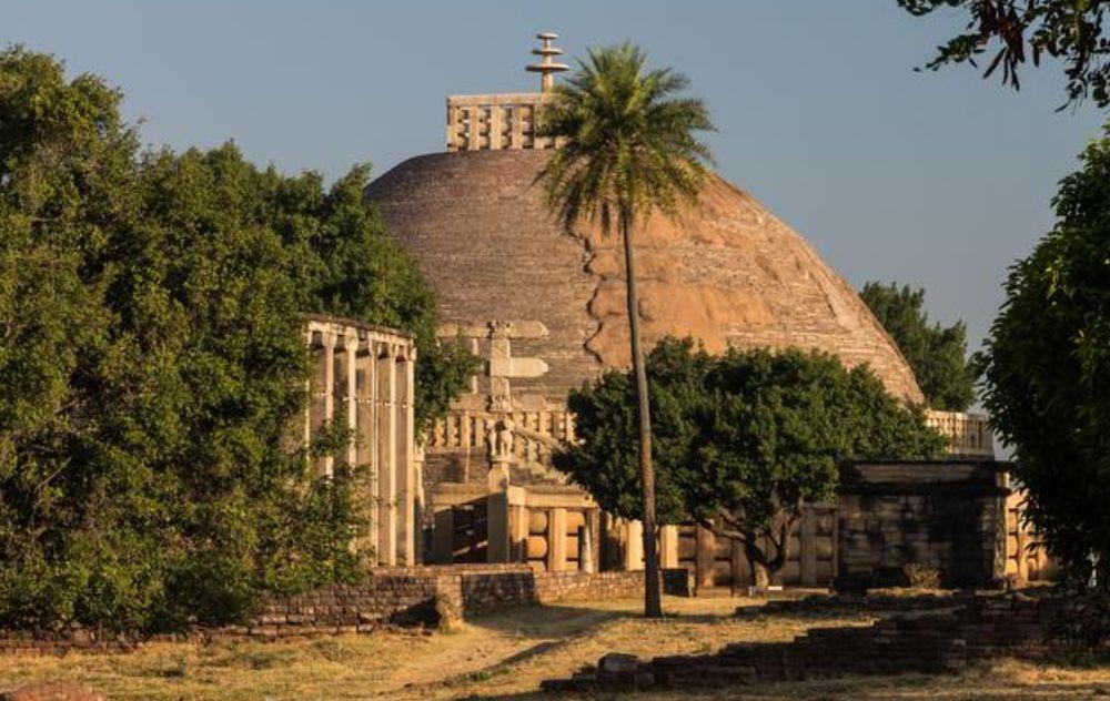
[[[195,627],[185,634],[150,640],[269,641],[369,633],[383,627],[437,628],[507,607],[636,597],[643,587],[643,572],[535,572],[526,565],[380,568],[356,587],[325,587],[271,601],[239,626]],[[0,653],[122,652],[142,642],[82,629],[0,631]]]

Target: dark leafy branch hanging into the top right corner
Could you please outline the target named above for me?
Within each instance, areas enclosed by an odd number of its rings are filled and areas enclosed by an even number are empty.
[[[1106,0],[898,0],[898,4],[918,17],[952,8],[968,16],[966,31],[937,50],[926,64],[929,70],[986,60],[983,78],[1001,67],[1002,83],[1018,90],[1018,71],[1026,61],[1040,65],[1041,58],[1051,57],[1064,64],[1069,103],[1091,96],[1100,108],[1110,104],[1106,61],[1110,42],[1102,38],[1110,7]]]

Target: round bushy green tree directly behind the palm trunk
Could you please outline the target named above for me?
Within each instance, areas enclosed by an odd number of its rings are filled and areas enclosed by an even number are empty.
[[[739,539],[757,586],[786,563],[803,502],[831,497],[842,465],[926,459],[944,448],[919,407],[902,406],[867,366],[849,370],[825,353],[713,357],[689,338],[668,338],[648,356],[647,374],[659,522],[697,520]],[[569,406],[581,440],[556,465],[604,509],[639,518],[627,373],[572,393]]]

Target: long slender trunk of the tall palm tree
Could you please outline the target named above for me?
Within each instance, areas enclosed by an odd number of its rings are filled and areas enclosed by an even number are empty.
[[[647,368],[639,344],[639,299],[636,294],[636,261],[629,230],[629,215],[620,213],[620,235],[625,244],[625,278],[628,297],[628,338],[632,342],[632,367],[636,374],[636,402],[639,405],[639,481],[644,497],[644,616],[663,617],[659,592],[659,559],[655,550],[655,469],[652,467],[652,405],[647,389]]]

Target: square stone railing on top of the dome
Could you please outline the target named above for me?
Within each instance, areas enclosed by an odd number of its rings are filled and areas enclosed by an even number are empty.
[[[538,92],[447,98],[447,151],[555,148],[536,136],[544,99]]]

